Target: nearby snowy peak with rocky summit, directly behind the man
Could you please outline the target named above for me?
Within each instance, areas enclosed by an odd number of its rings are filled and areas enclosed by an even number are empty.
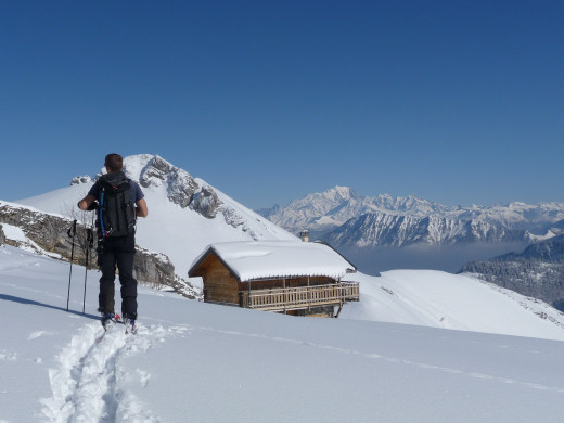
[[[124,158],[128,178],[145,194],[149,216],[138,220],[137,243],[166,255],[177,275],[185,279],[192,260],[210,244],[244,240],[299,240],[244,207],[221,191],[158,155]],[[102,169],[102,171],[105,171]],[[17,201],[43,213],[75,217],[90,225],[91,214],[78,214],[82,198],[98,176],[72,179],[60,190]]]

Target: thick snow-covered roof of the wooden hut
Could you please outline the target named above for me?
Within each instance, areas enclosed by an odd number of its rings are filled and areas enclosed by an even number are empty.
[[[189,274],[215,253],[241,282],[297,277],[328,277],[335,280],[357,269],[331,246],[317,242],[242,241],[209,245],[191,266]]]

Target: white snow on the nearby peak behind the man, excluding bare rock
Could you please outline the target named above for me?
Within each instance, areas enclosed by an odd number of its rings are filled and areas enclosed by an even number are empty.
[[[154,157],[150,154],[124,157],[128,177],[139,181],[141,172]],[[202,179],[195,180],[201,187],[207,184]],[[240,226],[228,225],[221,214],[214,219],[208,219],[189,207],[182,208],[167,197],[166,183],[162,183],[158,178],[152,179],[151,182],[148,188],[142,188],[149,216],[138,219],[136,241],[145,249],[166,254],[180,278],[187,278],[193,259],[211,243],[252,240],[300,242],[295,235],[239,204],[216,188],[213,189],[223,202],[223,206],[232,209],[240,217]],[[74,184],[31,198],[20,200],[17,203],[44,213],[68,216],[73,210],[78,210],[76,204],[87,195],[92,184],[93,182]]]

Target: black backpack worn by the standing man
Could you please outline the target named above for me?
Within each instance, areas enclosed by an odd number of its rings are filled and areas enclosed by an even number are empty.
[[[123,171],[100,177],[98,232],[103,238],[124,236],[136,227],[131,184]]]

